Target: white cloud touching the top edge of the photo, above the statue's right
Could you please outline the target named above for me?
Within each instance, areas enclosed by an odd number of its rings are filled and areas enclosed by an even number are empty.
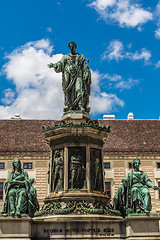
[[[94,0],[89,4],[106,21],[117,22],[120,27],[139,27],[152,20],[150,11],[136,0]]]

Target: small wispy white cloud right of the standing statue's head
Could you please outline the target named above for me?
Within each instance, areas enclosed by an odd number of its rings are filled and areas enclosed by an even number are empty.
[[[132,61],[136,60],[144,60],[145,63],[151,58],[151,51],[146,48],[142,48],[141,51],[132,52],[124,52],[124,46],[121,41],[112,40],[107,48],[107,50],[102,55],[102,59],[113,60],[115,59],[117,62],[122,59],[130,59]]]

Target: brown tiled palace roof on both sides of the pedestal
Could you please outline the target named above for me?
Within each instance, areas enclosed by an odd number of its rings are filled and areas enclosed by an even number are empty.
[[[159,155],[160,120],[98,120],[110,125],[104,155]],[[48,155],[42,126],[55,120],[0,120],[0,155]]]

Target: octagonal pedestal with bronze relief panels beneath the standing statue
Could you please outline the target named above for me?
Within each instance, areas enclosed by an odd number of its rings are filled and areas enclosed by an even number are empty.
[[[109,127],[99,126],[89,115],[70,113],[43,132],[51,159],[50,194],[44,199],[41,213],[108,214],[102,147]]]

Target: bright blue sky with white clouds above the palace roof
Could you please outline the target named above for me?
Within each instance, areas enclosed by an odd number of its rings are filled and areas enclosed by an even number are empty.
[[[61,74],[48,69],[69,53],[90,58],[91,116],[158,119],[160,1],[0,1],[0,118],[60,119]]]

